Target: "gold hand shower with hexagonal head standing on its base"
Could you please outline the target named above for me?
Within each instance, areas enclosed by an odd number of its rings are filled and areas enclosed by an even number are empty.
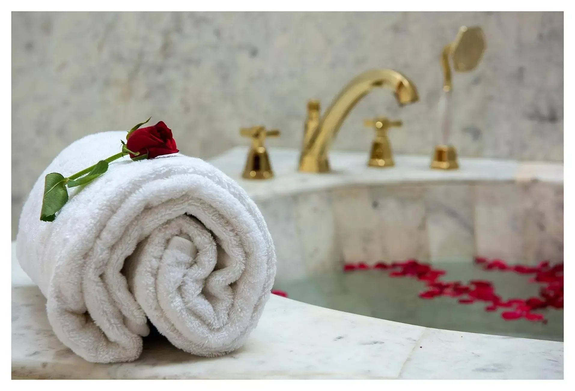
[[[455,40],[443,48],[441,53],[443,69],[441,140],[440,145],[435,146],[431,168],[444,170],[459,168],[455,147],[448,144],[451,133],[451,90],[453,88],[449,59],[453,61],[455,72],[469,72],[477,67],[484,52],[485,37],[481,27],[462,26]]]

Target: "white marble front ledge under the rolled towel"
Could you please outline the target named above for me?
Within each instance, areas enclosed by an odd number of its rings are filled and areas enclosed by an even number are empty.
[[[12,378],[563,378],[562,342],[436,330],[273,295],[247,343],[224,357],[194,357],[155,338],[134,362],[89,363],[53,334],[45,299],[14,255],[12,281]]]

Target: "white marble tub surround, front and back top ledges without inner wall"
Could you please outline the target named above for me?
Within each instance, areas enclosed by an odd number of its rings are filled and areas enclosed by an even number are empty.
[[[211,162],[239,179],[246,152],[235,148]],[[274,150],[270,157],[275,179],[239,179],[254,198],[358,182],[563,180],[559,164],[461,159],[461,170],[438,172],[427,168],[425,157],[396,157],[396,168],[377,170],[365,167],[363,154],[333,152],[334,173],[309,175],[296,172],[295,150]],[[158,336],[144,342],[135,362],[89,363],[57,340],[45,299],[14,254],[13,246],[13,378],[563,378],[562,342],[436,330],[278,296],[267,303],[246,345],[227,356],[193,357]]]

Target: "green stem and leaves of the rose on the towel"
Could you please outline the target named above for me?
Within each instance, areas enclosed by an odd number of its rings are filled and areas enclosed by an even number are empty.
[[[150,121],[150,118],[132,127],[132,129],[128,130],[126,140],[128,140],[128,137],[134,130],[144,125],[144,123]],[[56,213],[60,209],[62,209],[64,204],[68,202],[68,190],[66,189],[66,186],[68,186],[68,188],[72,188],[90,183],[91,181],[93,181],[106,171],[108,171],[109,163],[121,157],[124,157],[128,154],[132,154],[134,156],[132,160],[140,160],[147,158],[148,156],[147,153],[140,154],[140,152],[132,152],[131,150],[128,149],[124,141],[121,141],[121,143],[122,143],[122,152],[116,153],[115,155],[110,156],[107,159],[100,160],[96,164],[86,169],[83,169],[80,172],[76,172],[74,175],[71,175],[67,178],[65,178],[62,174],[57,172],[47,174],[44,180],[44,199],[42,200],[40,220],[51,222],[56,218]]]

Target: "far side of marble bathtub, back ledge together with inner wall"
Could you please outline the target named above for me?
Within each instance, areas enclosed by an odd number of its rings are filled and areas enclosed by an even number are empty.
[[[213,160],[252,196],[274,238],[276,280],[341,270],[344,262],[465,262],[475,255],[563,261],[563,165],[462,159],[434,171],[425,156],[366,167],[332,152],[333,173],[296,172],[298,152],[271,149],[275,178],[241,179],[246,148]]]

